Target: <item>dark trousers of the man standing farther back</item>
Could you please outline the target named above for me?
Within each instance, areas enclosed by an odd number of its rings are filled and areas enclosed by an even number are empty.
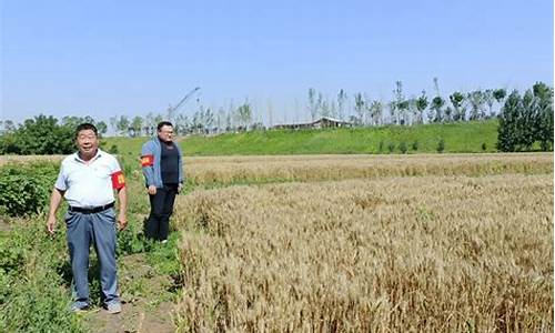
[[[170,216],[173,202],[178,194],[178,185],[164,185],[157,189],[157,194],[150,196],[150,215],[147,220],[145,234],[148,239],[163,241],[168,239]]]

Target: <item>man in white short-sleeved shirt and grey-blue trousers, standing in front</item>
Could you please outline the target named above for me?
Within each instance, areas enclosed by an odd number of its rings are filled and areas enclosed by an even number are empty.
[[[56,230],[56,212],[64,198],[69,204],[64,220],[73,272],[75,301],[72,311],[89,307],[89,250],[94,244],[100,261],[100,282],[105,309],[121,312],[115,263],[115,211],[113,190],[120,205],[118,228],[127,224],[125,180],[118,160],[99,149],[98,130],[93,124],[78,125],[79,151],[67,157],[50,198],[48,231]]]

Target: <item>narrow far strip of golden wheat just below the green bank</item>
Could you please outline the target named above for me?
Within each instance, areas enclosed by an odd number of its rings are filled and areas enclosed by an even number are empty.
[[[552,173],[553,153],[185,158],[193,184]]]

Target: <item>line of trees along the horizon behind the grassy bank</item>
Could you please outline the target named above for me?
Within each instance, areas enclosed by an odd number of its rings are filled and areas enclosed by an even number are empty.
[[[553,88],[545,83],[537,82],[522,95],[516,90],[507,97],[505,89],[486,89],[455,91],[448,99],[440,94],[437,79],[434,79],[434,87],[433,97],[422,91],[418,97],[406,98],[403,83],[397,81],[390,102],[370,99],[359,92],[353,95],[352,108],[343,89],[336,99],[330,100],[310,88],[305,111],[312,120],[336,118],[353,127],[414,125],[498,118],[500,151],[553,150]],[[272,118],[271,104],[268,111],[269,118]],[[153,135],[157,124],[162,120],[170,120],[180,135],[266,129],[248,99],[236,107],[231,103],[226,109],[219,108],[216,112],[201,105],[191,118],[182,113],[164,117],[151,112],[145,117],[114,115],[110,118],[109,124],[91,117],[63,117],[59,121],[41,114],[19,125],[10,120],[1,121],[0,153],[69,153],[74,149],[74,128],[81,122],[94,123],[101,135],[111,127],[112,132],[119,135],[143,137]]]

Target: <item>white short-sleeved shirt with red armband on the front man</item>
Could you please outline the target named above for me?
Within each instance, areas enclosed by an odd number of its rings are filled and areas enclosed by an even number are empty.
[[[71,206],[100,206],[114,201],[114,176],[123,181],[120,163],[99,149],[88,163],[79,158],[79,153],[63,159],[54,186],[65,191],[63,196]]]

